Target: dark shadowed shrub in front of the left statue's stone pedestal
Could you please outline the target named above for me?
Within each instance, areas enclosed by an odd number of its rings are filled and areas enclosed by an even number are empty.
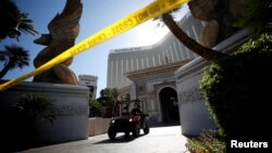
[[[53,101],[45,95],[27,93],[18,98],[18,100],[4,107],[1,112],[3,119],[2,140],[8,146],[7,151],[14,152],[38,146],[37,136],[39,129],[36,122],[50,122],[53,126],[55,113],[53,111]],[[12,148],[10,148],[12,145]]]

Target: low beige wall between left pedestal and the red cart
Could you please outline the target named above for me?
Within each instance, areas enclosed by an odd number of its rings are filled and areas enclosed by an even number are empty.
[[[111,118],[91,117],[89,118],[89,137],[107,133]]]

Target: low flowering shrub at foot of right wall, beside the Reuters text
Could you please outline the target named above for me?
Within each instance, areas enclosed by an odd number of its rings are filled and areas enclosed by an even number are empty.
[[[186,148],[190,153],[225,153],[224,140],[217,131],[203,130],[197,139],[188,139]]]

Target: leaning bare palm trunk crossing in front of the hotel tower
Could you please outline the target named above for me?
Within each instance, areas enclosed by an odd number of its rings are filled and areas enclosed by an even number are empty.
[[[166,13],[162,15],[163,23],[169,27],[169,29],[172,31],[172,34],[188,49],[190,49],[196,54],[202,56],[207,61],[214,61],[217,59],[220,59],[226,54],[223,54],[222,52],[211,50],[209,48],[206,48],[201,44],[199,44],[196,40],[191,39],[187,36],[186,33],[180,26],[176,24],[176,22],[173,20],[173,17]]]

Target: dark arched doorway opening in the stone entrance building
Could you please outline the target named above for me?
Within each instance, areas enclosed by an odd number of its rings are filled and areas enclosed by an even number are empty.
[[[162,122],[180,122],[177,93],[175,89],[165,87],[159,92]]]

